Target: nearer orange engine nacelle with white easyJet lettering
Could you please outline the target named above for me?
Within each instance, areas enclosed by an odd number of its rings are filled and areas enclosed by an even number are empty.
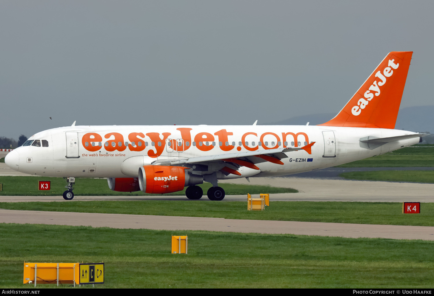
[[[145,165],[138,170],[140,190],[146,193],[171,193],[185,186],[204,183],[204,177],[187,172],[188,167]]]

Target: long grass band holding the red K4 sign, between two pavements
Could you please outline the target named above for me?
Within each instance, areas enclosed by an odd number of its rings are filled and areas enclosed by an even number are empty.
[[[245,202],[140,200],[0,203],[2,209],[34,211],[434,226],[434,203],[423,203],[421,207],[420,214],[409,215],[402,214],[402,203],[271,200],[270,206],[264,211],[247,211],[247,200]]]

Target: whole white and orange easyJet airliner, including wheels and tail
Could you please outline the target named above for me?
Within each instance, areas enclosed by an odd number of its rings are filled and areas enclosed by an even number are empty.
[[[424,134],[396,130],[412,51],[390,52],[344,108],[320,125],[81,125],[49,129],[11,151],[16,171],[107,178],[111,190],[222,200],[218,180],[296,174],[394,151]]]

